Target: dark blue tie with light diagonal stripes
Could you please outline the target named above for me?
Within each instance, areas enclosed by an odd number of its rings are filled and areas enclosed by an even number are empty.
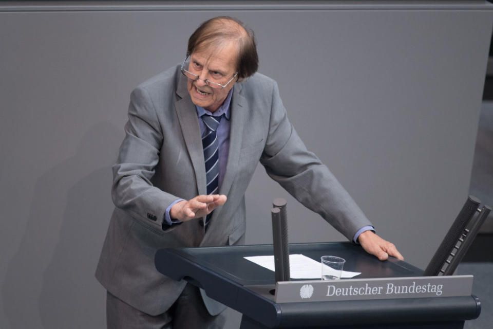
[[[204,149],[205,176],[207,183],[207,194],[216,194],[219,185],[219,142],[217,140],[217,126],[222,116],[213,117],[211,115],[202,115],[202,121],[206,126],[204,136],[202,137],[202,147]],[[207,227],[211,219],[212,212],[205,216],[204,227]]]

